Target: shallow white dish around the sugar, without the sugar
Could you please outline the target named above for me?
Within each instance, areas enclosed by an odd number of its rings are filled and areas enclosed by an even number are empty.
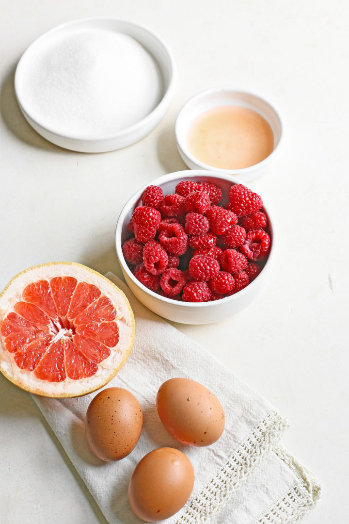
[[[69,129],[63,132],[62,129],[55,129],[52,125],[48,125],[47,122],[43,122],[42,118],[35,114],[35,110],[26,100],[27,72],[36,63],[37,53],[40,52],[40,49],[50,45],[54,39],[60,38],[62,40],[66,36],[74,35],[75,31],[82,29],[103,29],[125,34],[139,42],[151,54],[159,66],[161,77],[159,82],[162,84],[161,86],[159,84],[159,89],[162,88],[162,98],[159,104],[139,122],[121,130],[116,130],[115,133],[79,136],[71,133]],[[22,55],[16,68],[15,93],[22,113],[39,135],[65,149],[95,153],[113,151],[129,146],[148,135],[161,122],[168,107],[170,107],[175,81],[176,64],[172,52],[166,43],[152,31],[126,20],[82,18],[54,27],[31,43]]]

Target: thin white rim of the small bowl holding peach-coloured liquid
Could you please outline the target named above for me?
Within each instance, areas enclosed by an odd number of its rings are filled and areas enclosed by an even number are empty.
[[[190,151],[186,147],[186,142],[185,142],[186,137],[182,136],[183,134],[181,135],[181,133],[178,132],[178,119],[181,118],[181,114],[183,115],[183,113],[187,110],[187,108],[190,105],[192,105],[195,102],[197,102],[197,100],[205,98],[206,96],[208,96],[210,94],[219,93],[219,92],[222,92],[222,91],[229,92],[229,93],[237,93],[237,94],[249,95],[249,96],[254,97],[255,99],[259,99],[262,102],[264,102],[265,104],[267,104],[272,109],[272,111],[275,113],[275,116],[278,119],[278,123],[279,123],[279,126],[280,126],[280,138],[278,140],[278,143],[276,144],[276,146],[274,147],[274,149],[273,149],[273,151],[271,152],[270,155],[268,155],[266,158],[261,160],[261,162],[257,162],[256,164],[253,164],[253,166],[244,167],[244,168],[240,168],[240,169],[222,169],[222,168],[216,168],[215,166],[209,166],[208,164],[205,164],[204,162],[201,162],[200,160],[198,160],[196,157],[194,157],[190,153]],[[257,110],[255,110],[255,111],[257,111]],[[200,114],[202,114],[202,112]],[[186,130],[188,131],[188,127],[186,128]],[[273,135],[274,135],[274,132],[273,132]],[[220,174],[230,174],[230,173],[233,173],[233,174],[244,174],[244,173],[250,173],[250,172],[252,172],[254,170],[257,170],[259,168],[263,168],[271,160],[274,159],[275,155],[279,151],[280,144],[282,143],[283,122],[282,122],[282,119],[280,117],[280,113],[275,108],[274,103],[271,104],[264,97],[262,97],[260,95],[257,95],[255,93],[252,93],[251,91],[243,91],[241,89],[223,88],[223,87],[217,86],[215,88],[205,89],[205,91],[200,91],[199,93],[197,93],[196,95],[192,96],[189,100],[187,100],[183,104],[183,106],[181,107],[181,109],[179,110],[179,112],[177,114],[177,118],[176,118],[176,122],[175,122],[175,136],[176,136],[176,141],[177,141],[177,147],[179,149],[181,149],[183,154],[190,160],[190,162],[192,162],[196,166],[199,166],[202,169],[205,169],[205,170],[208,170],[208,171],[216,171],[217,173],[220,173]],[[275,135],[274,135],[274,138],[275,138]]]

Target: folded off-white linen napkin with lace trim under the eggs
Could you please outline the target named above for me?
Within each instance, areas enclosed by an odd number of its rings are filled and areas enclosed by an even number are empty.
[[[215,357],[145,308],[125,283],[106,275],[127,295],[136,319],[134,346],[125,366],[105,387],[123,387],[139,400],[144,425],[134,450],[105,463],[89,449],[85,413],[97,394],[72,399],[32,395],[110,524],[139,524],[128,503],[128,483],[140,459],[162,446],[192,461],[195,485],[187,504],[166,524],[286,524],[320,496],[313,475],[278,445],[288,423]],[[187,377],[211,389],[226,413],[221,438],[208,447],[179,444],[157,415],[157,389],[168,378]]]

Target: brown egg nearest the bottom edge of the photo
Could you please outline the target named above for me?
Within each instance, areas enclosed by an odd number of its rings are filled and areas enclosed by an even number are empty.
[[[159,447],[143,457],[130,479],[134,513],[148,522],[171,517],[185,505],[194,487],[194,468],[182,451]]]

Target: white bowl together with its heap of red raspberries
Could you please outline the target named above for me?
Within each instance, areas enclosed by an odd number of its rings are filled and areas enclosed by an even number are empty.
[[[260,195],[205,170],[166,174],[134,193],[116,227],[116,251],[133,294],[185,324],[217,322],[262,290],[275,226]]]

